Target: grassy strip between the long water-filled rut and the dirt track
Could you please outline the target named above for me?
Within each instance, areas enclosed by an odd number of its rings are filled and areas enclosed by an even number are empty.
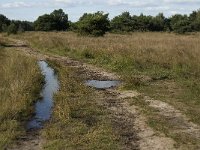
[[[52,119],[42,131],[44,149],[120,149],[109,112],[97,104],[95,90],[83,85],[75,70],[51,62],[60,81]]]

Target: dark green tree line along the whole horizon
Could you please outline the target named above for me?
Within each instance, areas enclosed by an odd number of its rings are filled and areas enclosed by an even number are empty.
[[[98,11],[85,13],[77,22],[68,20],[68,14],[62,9],[50,14],[39,16],[34,22],[9,20],[0,15],[0,32],[18,33],[24,31],[74,31],[81,35],[103,36],[106,32],[127,33],[135,31],[159,32],[199,32],[200,10],[189,15],[175,14],[165,17],[163,13],[157,16],[140,14],[131,15],[129,12],[109,19],[109,14]]]

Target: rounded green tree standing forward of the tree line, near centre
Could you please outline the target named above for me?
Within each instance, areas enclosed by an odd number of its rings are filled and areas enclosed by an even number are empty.
[[[103,36],[109,30],[108,14],[85,13],[77,22],[77,31],[81,35]]]

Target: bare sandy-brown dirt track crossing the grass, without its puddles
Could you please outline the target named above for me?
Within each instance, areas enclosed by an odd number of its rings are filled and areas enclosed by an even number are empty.
[[[108,73],[101,68],[94,67],[67,57],[49,56],[39,53],[28,47],[22,41],[14,41],[11,45],[16,47],[19,51],[26,55],[37,57],[39,60],[55,60],[63,63],[66,67],[76,68],[83,79],[96,80],[119,80],[119,76],[114,73]],[[195,138],[200,138],[200,128],[198,125],[191,123],[189,119],[173,106],[153,100],[144,94],[137,91],[119,91],[116,89],[96,91],[99,95],[99,105],[111,110],[110,115],[113,126],[119,132],[122,141],[124,142],[124,149],[141,149],[141,150],[172,150],[175,141],[166,137],[164,134],[155,132],[146,124],[146,118],[141,113],[140,108],[135,105],[130,105],[129,100],[133,97],[143,95],[144,101],[148,102],[149,106],[158,110],[159,115],[167,117],[172,121],[178,121],[178,130],[172,132],[185,132],[191,134]],[[32,135],[21,139],[21,142],[14,149],[39,149],[41,148],[41,141],[39,135]],[[180,148],[182,149],[182,148]]]

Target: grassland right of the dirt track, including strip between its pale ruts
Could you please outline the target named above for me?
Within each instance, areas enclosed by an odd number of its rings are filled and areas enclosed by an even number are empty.
[[[14,37],[25,40],[41,53],[69,56],[114,71],[124,81],[124,89],[137,89],[154,99],[165,101],[181,110],[190,121],[200,124],[198,33],[149,32],[93,38],[69,32],[29,32]],[[149,125],[155,130],[180,144],[195,145],[198,142],[183,134],[171,134],[174,127],[154,113],[156,110],[143,105],[143,102],[133,103],[143,107]]]

